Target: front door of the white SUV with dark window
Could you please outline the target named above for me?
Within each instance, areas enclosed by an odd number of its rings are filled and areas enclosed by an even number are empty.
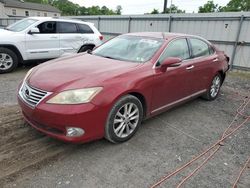
[[[40,23],[40,33],[25,36],[26,55],[28,59],[50,59],[59,57],[59,34],[54,21]]]

